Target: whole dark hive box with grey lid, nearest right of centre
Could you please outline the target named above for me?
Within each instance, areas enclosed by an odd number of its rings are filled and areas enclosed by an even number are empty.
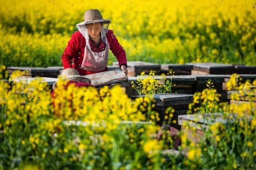
[[[132,96],[132,99],[136,99],[138,97],[145,97],[146,95],[137,95]],[[154,111],[159,113],[160,121],[159,125],[162,125],[164,121],[165,110],[168,107],[173,107],[175,109],[174,117],[172,117],[172,121],[176,120],[178,122],[178,115],[185,115],[188,111],[188,104],[192,103],[193,95],[188,94],[177,94],[177,93],[166,93],[166,94],[156,94],[151,95],[156,103],[156,107],[154,107]],[[171,124],[172,127],[180,129],[180,126],[177,124]]]

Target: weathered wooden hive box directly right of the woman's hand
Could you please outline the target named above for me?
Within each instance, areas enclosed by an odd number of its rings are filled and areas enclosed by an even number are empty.
[[[114,62],[113,66],[117,66],[118,62]],[[145,74],[149,74],[151,70],[156,71],[156,75],[160,74],[161,65],[155,63],[148,63],[143,61],[128,61],[127,62],[127,70],[128,76],[137,76],[145,71]]]

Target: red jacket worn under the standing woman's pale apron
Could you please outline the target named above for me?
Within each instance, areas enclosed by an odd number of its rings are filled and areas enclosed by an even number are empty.
[[[114,55],[118,59],[119,67],[121,67],[121,65],[125,65],[127,67],[126,53],[123,47],[118,42],[118,40],[116,39],[116,36],[114,35],[113,31],[108,30],[106,37],[110,46],[110,50],[112,51],[112,53],[114,53]],[[105,48],[105,43],[103,41],[100,43],[98,48],[91,40],[89,40],[89,43],[92,51],[94,52],[101,52]],[[85,45],[86,45],[85,38],[84,36],[82,36],[82,34],[79,31],[72,34],[72,37],[68,42],[68,45],[64,53],[62,54],[62,64],[64,69],[74,68],[80,73],[80,75],[107,71],[108,70],[107,67],[102,71],[87,71],[79,68],[84,58]],[[74,62],[73,64],[71,64],[72,60]]]

